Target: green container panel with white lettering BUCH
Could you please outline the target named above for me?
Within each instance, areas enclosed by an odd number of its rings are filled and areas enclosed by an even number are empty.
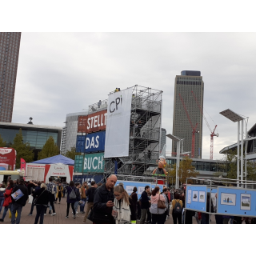
[[[85,154],[83,173],[103,173],[104,153]]]

